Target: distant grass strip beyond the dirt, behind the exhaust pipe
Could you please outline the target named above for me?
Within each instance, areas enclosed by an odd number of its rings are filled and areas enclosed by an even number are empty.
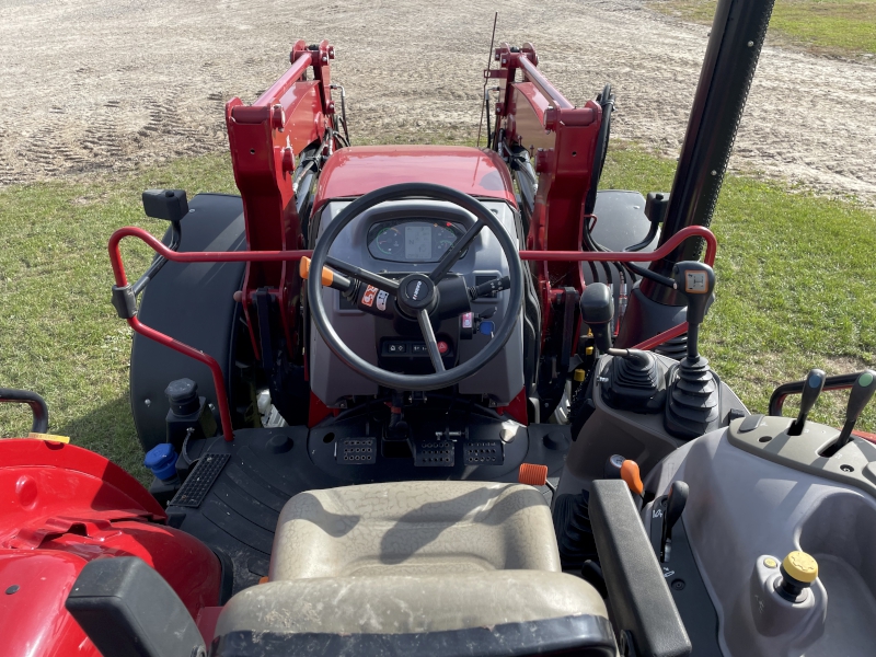
[[[654,0],[650,7],[711,24],[716,0]],[[827,55],[876,53],[876,0],[776,0],[770,33],[782,44]]]

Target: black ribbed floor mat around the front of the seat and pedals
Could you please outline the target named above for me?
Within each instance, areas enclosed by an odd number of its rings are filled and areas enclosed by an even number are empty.
[[[570,443],[565,435],[557,440],[560,434],[568,433],[567,427],[532,425],[505,446],[503,465],[466,465],[462,446],[450,468],[417,468],[413,458],[382,454],[376,462],[364,464],[338,462],[336,445],[347,437],[365,435],[356,422],[333,424],[331,441],[325,440],[324,427],[309,431],[298,426],[241,429],[234,433],[233,442],[214,438],[192,446],[193,453],[198,449],[203,453],[184,488],[168,507],[170,523],[221,553],[227,557],[222,558],[223,564],[233,564],[232,589],[238,592],[267,575],[277,519],[284,505],[298,493],[380,481],[516,482],[517,469],[523,461],[548,465],[555,477]],[[494,422],[475,420],[470,430],[480,440],[497,431],[496,427]],[[207,485],[209,489],[205,492]]]

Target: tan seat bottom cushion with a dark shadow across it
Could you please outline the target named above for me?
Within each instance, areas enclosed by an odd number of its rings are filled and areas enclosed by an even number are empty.
[[[396,482],[292,497],[277,523],[268,578],[496,569],[560,572],[541,493],[520,484]]]

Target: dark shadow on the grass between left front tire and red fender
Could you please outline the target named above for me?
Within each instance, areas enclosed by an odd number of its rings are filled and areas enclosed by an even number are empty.
[[[58,426],[54,433],[69,436],[74,445],[103,454],[141,483],[151,482],[151,474],[142,464],[143,452],[127,394]]]

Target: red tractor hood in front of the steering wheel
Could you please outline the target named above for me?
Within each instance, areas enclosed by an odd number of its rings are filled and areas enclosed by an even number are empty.
[[[475,197],[517,201],[508,166],[493,151],[459,146],[360,146],[336,151],[320,175],[314,210],[332,198],[399,183],[438,183]]]

